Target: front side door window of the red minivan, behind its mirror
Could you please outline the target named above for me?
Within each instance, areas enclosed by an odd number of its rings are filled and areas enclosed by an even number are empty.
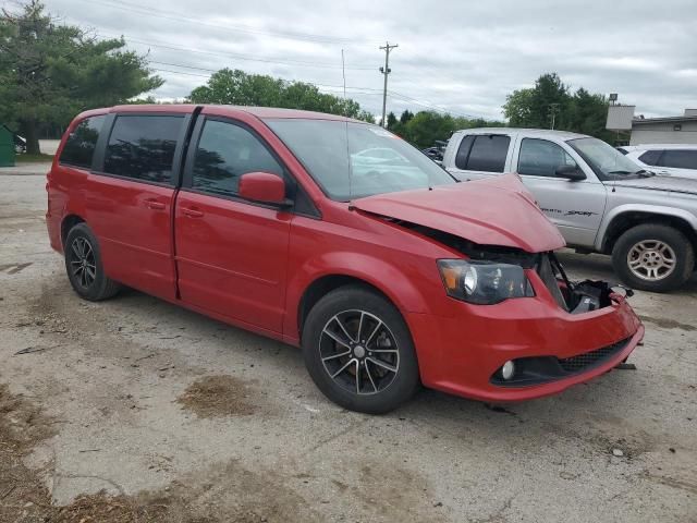
[[[196,148],[193,187],[223,196],[235,195],[240,177],[255,171],[283,175],[283,168],[249,131],[207,120]]]

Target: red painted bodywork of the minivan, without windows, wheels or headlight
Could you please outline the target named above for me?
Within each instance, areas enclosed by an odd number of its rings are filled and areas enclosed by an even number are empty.
[[[88,115],[192,113],[194,108],[123,106],[88,111],[75,119],[66,136]],[[482,244],[530,252],[561,247],[561,235],[516,177],[366,197],[348,205],[327,198],[260,120],[341,117],[212,106],[204,107],[201,115],[233,119],[252,129],[305,191],[319,217],[62,166],[61,144],[48,175],[47,226],[53,248],[62,251],[64,220],[77,217],[97,235],[105,270],[113,279],[292,344],[299,343],[301,303],[308,287],[327,276],[353,277],[380,290],[401,311],[426,386],[480,400],[515,401],[559,392],[612,368],[641,339],[644,328],[626,302],[571,315],[555,304],[534,271],[528,278],[536,297],[487,306],[453,300],[445,294],[436,260],[463,255],[382,218]],[[243,177],[241,192],[249,199],[280,202],[285,193],[268,177]],[[525,388],[489,382],[510,358],[567,357],[626,338],[632,341],[621,354],[573,378]]]

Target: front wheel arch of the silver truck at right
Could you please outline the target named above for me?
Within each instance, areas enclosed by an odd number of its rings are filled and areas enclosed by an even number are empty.
[[[635,226],[644,223],[663,224],[672,227],[689,240],[693,250],[697,253],[697,218],[681,209],[664,207],[627,207],[615,209],[609,217],[607,224],[599,234],[600,244],[596,248],[603,254],[611,254],[615,243],[622,234]]]

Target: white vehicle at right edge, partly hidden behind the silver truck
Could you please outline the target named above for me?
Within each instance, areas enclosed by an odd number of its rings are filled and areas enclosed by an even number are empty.
[[[657,174],[697,179],[697,145],[645,144],[617,149],[638,166]]]

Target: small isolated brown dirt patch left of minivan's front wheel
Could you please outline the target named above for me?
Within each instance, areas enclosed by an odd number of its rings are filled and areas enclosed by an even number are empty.
[[[241,379],[206,376],[189,385],[176,402],[198,417],[222,417],[254,414],[250,398],[249,387]]]

